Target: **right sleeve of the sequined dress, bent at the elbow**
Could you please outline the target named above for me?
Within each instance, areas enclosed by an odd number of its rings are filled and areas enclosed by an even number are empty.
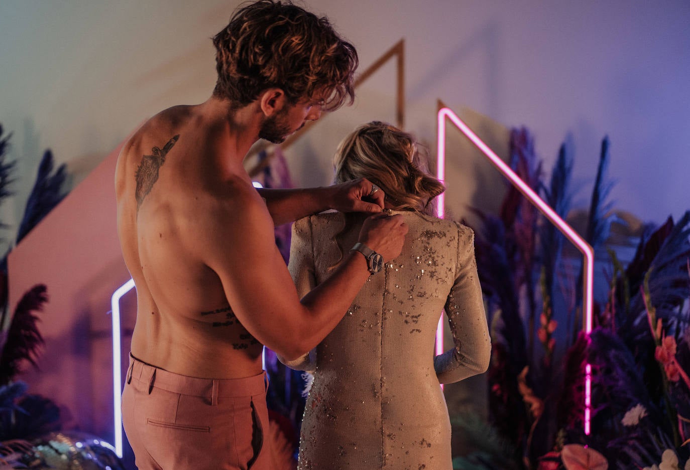
[[[477,275],[474,232],[461,224],[457,224],[457,229],[457,274],[445,307],[454,347],[434,358],[434,369],[441,383],[482,374],[489,368],[491,359],[491,338]]]

